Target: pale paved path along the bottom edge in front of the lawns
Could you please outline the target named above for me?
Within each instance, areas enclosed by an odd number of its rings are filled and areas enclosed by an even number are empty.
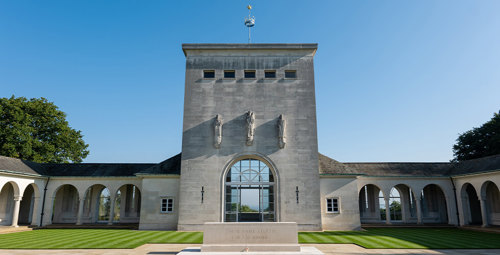
[[[78,249],[78,250],[0,250],[2,255],[24,255],[24,254],[55,254],[55,255],[174,255],[192,244],[146,244],[136,249]],[[425,250],[425,249],[364,249],[353,244],[306,244],[303,246],[314,246],[326,255],[427,255],[427,254],[453,254],[453,255],[498,255],[498,250]]]

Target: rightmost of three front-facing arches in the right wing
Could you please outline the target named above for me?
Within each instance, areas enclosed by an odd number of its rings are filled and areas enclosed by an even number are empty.
[[[428,184],[420,196],[423,223],[448,223],[448,201],[441,186]]]

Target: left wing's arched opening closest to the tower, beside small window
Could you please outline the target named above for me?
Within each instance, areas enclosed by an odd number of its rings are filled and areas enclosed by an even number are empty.
[[[134,184],[123,184],[115,192],[113,221],[139,223],[141,215],[141,190]]]

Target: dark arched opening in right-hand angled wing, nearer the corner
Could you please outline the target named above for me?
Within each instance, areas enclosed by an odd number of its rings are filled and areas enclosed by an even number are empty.
[[[481,203],[477,196],[476,189],[470,183],[462,186],[462,211],[465,225],[482,225]]]

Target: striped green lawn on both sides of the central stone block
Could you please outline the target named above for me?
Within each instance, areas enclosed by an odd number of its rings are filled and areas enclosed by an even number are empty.
[[[43,229],[0,235],[0,249],[135,248],[146,243],[200,244],[201,232]],[[497,248],[500,234],[452,228],[370,228],[300,232],[300,243],[353,243],[365,248]]]

